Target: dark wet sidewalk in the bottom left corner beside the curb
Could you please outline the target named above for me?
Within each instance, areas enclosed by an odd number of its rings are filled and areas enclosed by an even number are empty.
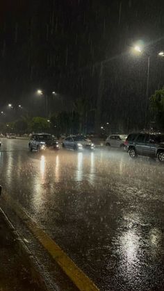
[[[1,291],[41,291],[33,278],[26,256],[19,249],[14,230],[8,224],[6,215],[0,208],[0,290]]]

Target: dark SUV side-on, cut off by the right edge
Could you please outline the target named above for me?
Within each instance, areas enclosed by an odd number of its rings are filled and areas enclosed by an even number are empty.
[[[130,133],[124,144],[131,158],[149,156],[164,163],[164,134]]]

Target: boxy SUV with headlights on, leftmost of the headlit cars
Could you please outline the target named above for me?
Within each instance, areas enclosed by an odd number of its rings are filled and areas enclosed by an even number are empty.
[[[37,151],[44,151],[47,149],[58,150],[60,148],[58,141],[49,133],[35,133],[31,135],[28,147],[30,151],[33,151],[33,149]]]

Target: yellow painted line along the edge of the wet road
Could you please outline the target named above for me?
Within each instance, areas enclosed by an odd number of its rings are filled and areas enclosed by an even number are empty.
[[[73,262],[69,256],[52,240],[43,229],[38,226],[36,222],[31,219],[31,217],[26,213],[22,206],[14,201],[8,194],[3,192],[3,198],[10,204],[10,207],[15,211],[15,213],[23,220],[23,222],[28,226],[31,232],[35,235],[35,238],[39,240],[42,246],[49,252],[49,254],[54,258],[56,263],[60,265],[65,274],[74,282],[77,288],[81,291],[98,291],[97,286],[92,282],[92,280],[83,273],[79,267]]]

